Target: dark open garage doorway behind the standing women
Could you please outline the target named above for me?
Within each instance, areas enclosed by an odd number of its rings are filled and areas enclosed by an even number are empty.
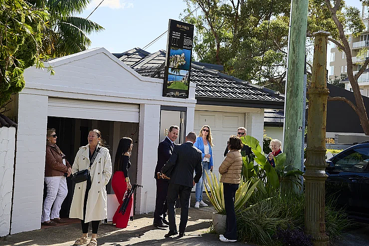
[[[138,127],[139,127],[138,123],[132,122],[89,120],[89,119],[64,118],[53,116],[47,117],[47,128],[55,128],[58,137],[56,144],[59,146],[60,150],[66,155],[66,158],[71,165],[73,165],[74,158],[79,148],[81,146],[85,146],[88,144],[87,136],[91,129],[99,129],[101,131],[102,138],[106,141],[107,145],[106,147],[109,149],[112,158],[113,169],[114,169],[115,152],[117,150],[119,140],[122,137],[132,138],[135,147],[132,150],[132,155],[130,158],[132,165],[128,170],[132,184],[135,184],[137,180]],[[64,202],[61,206],[60,210],[61,218],[69,217],[69,210],[72,203],[75,186],[71,178],[67,178],[67,186],[68,186],[68,195],[64,199]],[[46,196],[45,187],[46,185],[44,184],[43,199],[45,199]],[[111,186],[111,180],[106,186],[106,191],[108,194],[108,221],[109,221],[109,217],[110,216],[112,217],[111,213],[113,213],[113,215],[115,213],[114,210],[115,195]],[[136,198],[136,196],[134,197]]]

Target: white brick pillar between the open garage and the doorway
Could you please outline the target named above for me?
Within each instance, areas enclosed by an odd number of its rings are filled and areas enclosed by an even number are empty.
[[[155,210],[156,182],[155,167],[158,160],[160,105],[141,104],[139,123],[139,153],[137,169],[138,188],[136,213],[143,214]]]

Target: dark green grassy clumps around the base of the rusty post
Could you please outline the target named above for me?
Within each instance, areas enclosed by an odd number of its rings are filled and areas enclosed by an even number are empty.
[[[271,196],[255,192],[249,199],[247,208],[236,214],[237,235],[241,242],[275,246],[279,242],[273,239],[278,228],[303,228],[305,213],[305,195],[294,192],[282,194],[275,191]],[[331,243],[339,238],[342,231],[350,226],[346,214],[336,210],[331,203],[326,205],[326,231]]]

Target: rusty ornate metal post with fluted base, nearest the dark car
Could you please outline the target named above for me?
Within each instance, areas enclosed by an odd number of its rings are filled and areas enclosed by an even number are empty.
[[[314,58],[308,113],[308,143],[305,172],[305,233],[314,246],[328,246],[325,223],[325,168],[327,120],[327,43],[329,32],[314,33]]]

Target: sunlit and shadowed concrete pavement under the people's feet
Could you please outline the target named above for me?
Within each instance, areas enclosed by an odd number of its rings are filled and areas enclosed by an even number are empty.
[[[193,200],[193,199],[192,199]],[[169,230],[154,227],[153,215],[137,215],[134,221],[128,223],[126,229],[115,228],[111,223],[101,224],[98,234],[99,246],[218,246],[227,244],[219,241],[219,236],[209,232],[211,207],[194,209],[193,204],[188,213],[185,236],[165,238]],[[176,210],[177,226],[180,223],[180,210]],[[72,246],[81,236],[81,224],[45,228],[32,232],[18,233],[0,238],[0,246]],[[90,226],[91,233],[91,226]],[[232,245],[247,244],[233,243]]]

